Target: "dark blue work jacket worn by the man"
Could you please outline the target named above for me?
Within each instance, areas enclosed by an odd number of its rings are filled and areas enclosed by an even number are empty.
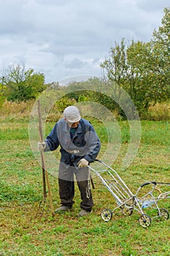
[[[75,167],[82,158],[93,162],[101,148],[95,129],[83,118],[80,119],[73,138],[70,137],[69,125],[62,118],[55,124],[45,142],[45,151],[54,151],[61,146],[61,162],[66,165],[73,164]]]

